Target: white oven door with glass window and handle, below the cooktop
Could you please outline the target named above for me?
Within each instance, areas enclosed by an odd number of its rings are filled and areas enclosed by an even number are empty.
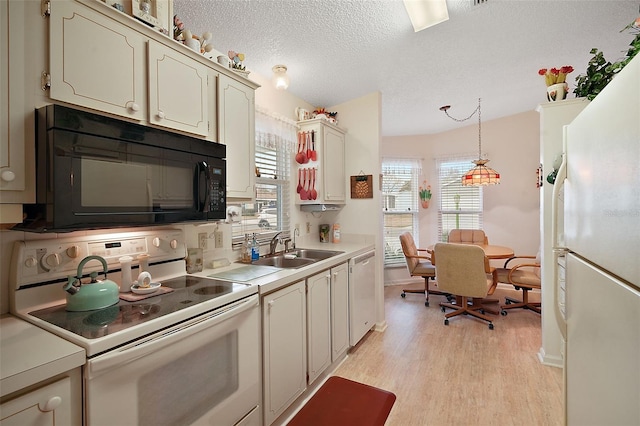
[[[258,304],[253,295],[88,360],[86,424],[259,424]]]

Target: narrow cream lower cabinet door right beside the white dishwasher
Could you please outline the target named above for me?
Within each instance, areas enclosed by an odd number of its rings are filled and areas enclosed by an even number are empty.
[[[349,269],[331,268],[331,362],[349,348]]]

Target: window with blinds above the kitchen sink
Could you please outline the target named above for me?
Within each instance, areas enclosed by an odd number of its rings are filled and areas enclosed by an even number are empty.
[[[289,236],[289,169],[284,150],[256,146],[255,203],[237,204],[241,220],[232,223],[233,243],[241,244],[244,235],[256,233],[264,243],[280,231]]]

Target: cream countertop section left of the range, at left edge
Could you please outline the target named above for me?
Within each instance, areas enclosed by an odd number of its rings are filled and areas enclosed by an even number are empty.
[[[76,346],[10,314],[0,317],[0,396],[84,365]]]

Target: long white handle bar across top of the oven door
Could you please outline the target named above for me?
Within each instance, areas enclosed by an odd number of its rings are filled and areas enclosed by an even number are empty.
[[[214,327],[232,317],[259,305],[257,295],[247,297],[237,302],[230,303],[209,314],[193,318],[185,323],[171,327],[160,333],[151,335],[146,339],[130,343],[122,348],[89,360],[87,371],[89,378],[94,378],[116,366],[122,366],[143,358],[146,355],[161,350],[162,348],[176,344],[180,340],[192,336],[203,329]]]

